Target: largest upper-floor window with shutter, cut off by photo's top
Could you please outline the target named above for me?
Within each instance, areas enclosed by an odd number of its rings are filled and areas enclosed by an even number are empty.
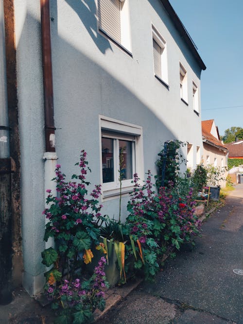
[[[128,0],[98,0],[99,30],[131,51]]]

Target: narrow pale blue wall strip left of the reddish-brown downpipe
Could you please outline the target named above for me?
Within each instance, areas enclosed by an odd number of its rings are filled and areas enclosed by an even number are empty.
[[[44,283],[44,108],[39,1],[16,0],[17,96],[21,150],[23,285],[37,294]]]

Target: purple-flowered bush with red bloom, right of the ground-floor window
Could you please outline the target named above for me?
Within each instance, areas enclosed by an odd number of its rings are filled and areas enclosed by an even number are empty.
[[[159,269],[158,261],[163,254],[174,256],[183,242],[191,242],[199,234],[200,222],[194,215],[192,190],[181,196],[174,183],[168,188],[160,187],[158,194],[153,190],[151,172],[143,186],[134,174],[134,189],[130,194],[127,209],[130,212],[126,223],[130,234],[138,246],[135,252],[140,258],[135,262],[135,269],[144,268],[145,278],[153,280]]]

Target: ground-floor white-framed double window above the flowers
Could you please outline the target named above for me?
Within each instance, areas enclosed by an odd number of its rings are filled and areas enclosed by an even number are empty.
[[[122,177],[122,193],[129,192],[135,172],[143,176],[142,128],[100,116],[101,124],[101,178],[103,198],[119,195]],[[121,155],[122,154],[122,155]],[[120,171],[120,156],[122,168]]]

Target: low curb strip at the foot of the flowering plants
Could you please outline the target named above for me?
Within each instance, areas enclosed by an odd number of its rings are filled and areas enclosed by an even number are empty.
[[[128,282],[122,287],[114,287],[106,290],[104,295],[105,308],[103,311],[100,311],[99,309],[94,311],[94,322],[97,322],[104,317],[104,315],[111,310],[111,308],[115,307],[118,302],[125,298],[131,291],[136,289],[142,281],[142,279],[139,279],[135,282]]]

